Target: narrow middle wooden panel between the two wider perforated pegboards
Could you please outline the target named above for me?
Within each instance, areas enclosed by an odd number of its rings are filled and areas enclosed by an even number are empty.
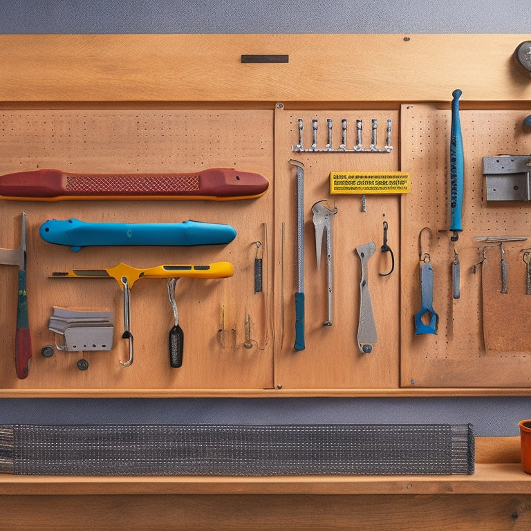
[[[313,142],[312,120],[317,119],[318,147],[328,141],[327,120],[333,120],[333,147],[342,139],[342,119],[347,120],[347,144],[356,142],[356,120],[363,120],[362,143],[371,143],[371,120],[378,119],[378,145],[385,144],[386,121],[393,122],[391,153],[297,153],[292,146],[299,139],[299,118],[304,123],[304,146]],[[275,115],[275,268],[276,308],[281,308],[275,351],[275,384],[282,389],[393,388],[398,386],[399,272],[389,277],[379,272],[390,269],[389,253],[380,252],[383,221],[389,223],[389,245],[399,254],[399,199],[395,195],[367,195],[366,212],[362,196],[331,195],[330,171],[398,170],[397,111],[289,111]],[[304,163],[304,275],[306,322],[304,351],[295,351],[295,292],[297,291],[296,168],[293,158]],[[326,261],[317,270],[315,227],[312,206],[326,200],[337,207],[333,218],[333,325],[323,326],[328,311]],[[361,264],[355,248],[374,241],[376,252],[369,261],[369,286],[378,331],[378,342],[370,354],[357,346],[360,312]],[[325,247],[323,246],[323,253]]]

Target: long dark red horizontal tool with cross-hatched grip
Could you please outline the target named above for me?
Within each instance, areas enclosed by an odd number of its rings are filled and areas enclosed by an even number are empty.
[[[58,169],[19,171],[0,176],[4,199],[252,199],[267,191],[260,174],[232,168],[185,174],[72,174]]]

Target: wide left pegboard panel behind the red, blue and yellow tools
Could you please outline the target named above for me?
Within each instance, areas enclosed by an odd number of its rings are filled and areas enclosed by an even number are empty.
[[[58,393],[146,394],[183,389],[263,389],[272,386],[272,111],[17,110],[0,113],[0,174],[53,168],[70,172],[133,174],[192,172],[221,167],[259,173],[270,181],[260,198],[242,201],[2,201],[0,246],[20,243],[21,212],[28,219],[27,292],[33,357],[30,374],[18,380],[13,365],[17,270],[0,266],[4,297],[0,387]],[[194,247],[94,247],[73,252],[46,243],[39,226],[48,219],[120,223],[226,223],[236,230],[227,245]],[[263,257],[263,290],[254,290],[257,242]],[[123,297],[114,279],[50,279],[55,271],[136,268],[161,264],[230,261],[226,279],[176,283],[184,361],[169,366],[168,334],[174,325],[167,279],[141,279],[131,288],[134,361],[123,367],[129,346],[122,339]],[[113,311],[111,352],[55,351],[48,330],[53,306]],[[77,369],[84,358],[89,367]],[[105,390],[105,391],[102,391]]]

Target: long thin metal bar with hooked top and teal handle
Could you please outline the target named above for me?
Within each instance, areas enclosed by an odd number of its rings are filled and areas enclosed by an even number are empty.
[[[304,164],[290,159],[297,167],[297,292],[295,293],[295,350],[304,351]]]

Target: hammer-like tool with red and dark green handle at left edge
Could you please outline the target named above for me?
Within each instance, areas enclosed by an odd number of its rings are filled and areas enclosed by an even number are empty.
[[[20,245],[17,249],[0,249],[0,264],[18,265],[17,331],[15,333],[15,369],[20,380],[28,377],[32,357],[28,299],[26,295],[26,213],[22,212]]]

